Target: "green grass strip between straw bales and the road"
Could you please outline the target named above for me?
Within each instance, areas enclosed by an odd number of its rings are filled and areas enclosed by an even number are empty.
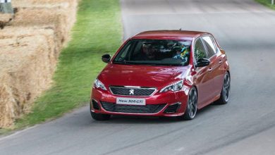
[[[63,115],[90,101],[92,82],[106,63],[102,54],[114,54],[121,45],[121,10],[118,0],[82,0],[73,36],[59,56],[54,85],[39,97],[32,112],[16,120],[13,130]],[[2,129],[0,134],[11,130]]]

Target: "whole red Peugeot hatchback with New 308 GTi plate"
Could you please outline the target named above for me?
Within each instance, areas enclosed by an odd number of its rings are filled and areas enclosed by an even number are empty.
[[[191,120],[197,109],[228,101],[226,54],[207,32],[142,32],[102,61],[108,64],[94,81],[90,101],[95,120],[111,115]]]

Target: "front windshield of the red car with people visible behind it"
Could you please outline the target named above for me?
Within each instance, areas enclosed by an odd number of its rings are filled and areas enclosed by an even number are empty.
[[[133,39],[114,58],[113,63],[186,66],[190,56],[190,41]]]

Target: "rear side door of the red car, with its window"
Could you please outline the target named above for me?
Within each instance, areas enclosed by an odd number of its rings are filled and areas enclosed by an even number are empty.
[[[221,93],[221,87],[224,79],[224,68],[222,68],[221,53],[218,52],[216,44],[214,44],[213,37],[204,36],[202,41],[207,49],[209,60],[211,61],[209,65],[209,74],[212,76],[212,91],[209,91],[209,96],[214,99]]]

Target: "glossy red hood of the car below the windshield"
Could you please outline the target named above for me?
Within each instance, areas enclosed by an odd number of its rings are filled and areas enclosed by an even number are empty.
[[[182,80],[190,66],[143,66],[120,65],[109,63],[99,75],[106,87],[140,86],[164,87],[177,80]]]

